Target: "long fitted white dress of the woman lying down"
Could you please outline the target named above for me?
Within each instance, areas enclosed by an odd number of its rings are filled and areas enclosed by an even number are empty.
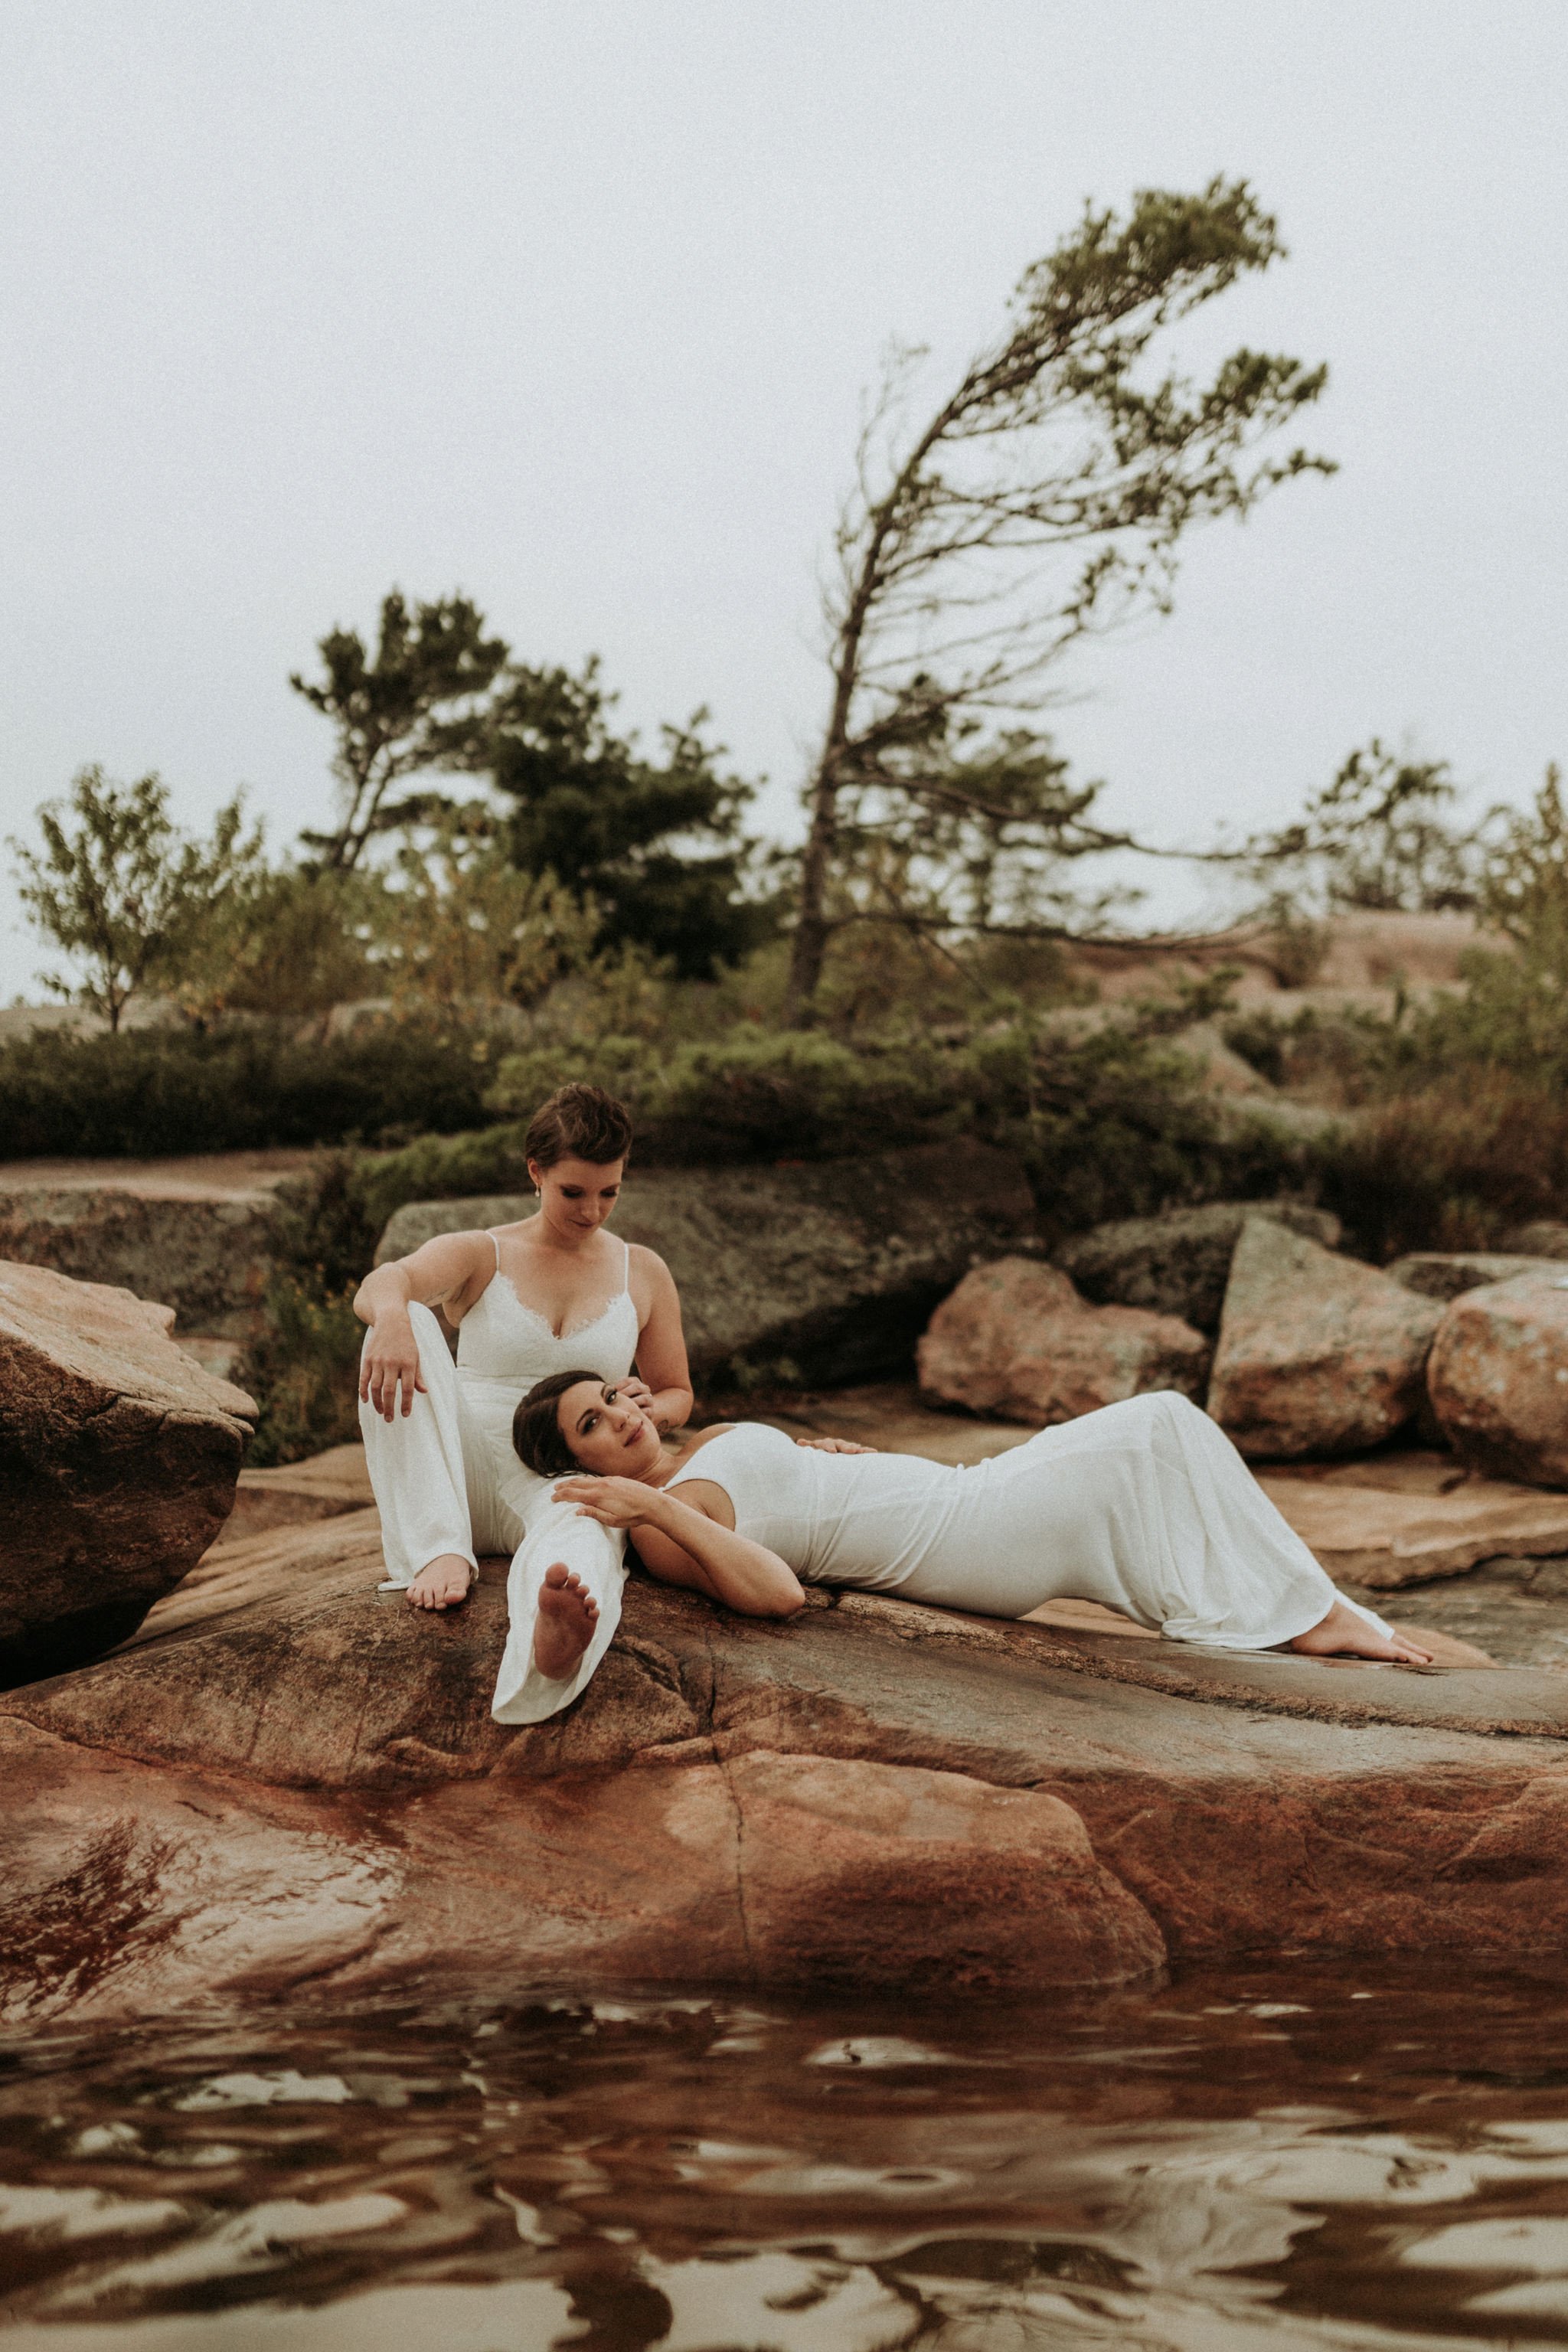
[[[670,1491],[689,1479],[722,1486],[738,1534],[806,1583],[980,1616],[1088,1599],[1173,1642],[1272,1649],[1345,1599],[1232,1442],[1173,1390],[959,1470],[917,1454],[818,1454],[743,1421]]]

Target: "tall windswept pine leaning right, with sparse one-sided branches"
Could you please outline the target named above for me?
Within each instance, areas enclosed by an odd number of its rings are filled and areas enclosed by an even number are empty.
[[[1145,376],[1168,327],[1279,254],[1241,181],[1145,191],[1126,219],[1086,209],[1025,270],[1001,334],[924,421],[924,353],[893,353],[837,527],[795,1018],[837,927],[877,913],[957,927],[973,920],[978,873],[985,927],[1063,929],[1063,858],[1138,847],[1091,823],[1093,788],[1065,786],[1032,720],[1070,647],[1168,609],[1192,524],[1333,470],[1305,449],[1251,456],[1319,397],[1326,369],[1237,350],[1204,386],[1173,367]]]

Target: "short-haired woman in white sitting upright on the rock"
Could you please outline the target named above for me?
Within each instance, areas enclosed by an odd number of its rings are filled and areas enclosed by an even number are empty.
[[[465,1599],[480,1552],[524,1543],[545,1498],[512,1451],[512,1414],[527,1388],[588,1364],[590,1376],[618,1383],[654,1444],[691,1414],[670,1270],[656,1251],[628,1249],[604,1230],[630,1141],[632,1122],[611,1094],[562,1087],[524,1138],[536,1216],[444,1232],[360,1284],[355,1315],[369,1324],[360,1428],[388,1588],[404,1588],[414,1609],[451,1609]],[[456,1364],[437,1305],[458,1334]],[[574,1569],[550,1564],[527,1585],[529,1663],[550,1684],[571,1684],[548,1693],[552,1710],[588,1679],[614,1630],[604,1602],[621,1592],[621,1538],[578,1545]],[[512,1578],[515,1637],[517,1590]],[[585,1658],[590,1644],[595,1658]]]

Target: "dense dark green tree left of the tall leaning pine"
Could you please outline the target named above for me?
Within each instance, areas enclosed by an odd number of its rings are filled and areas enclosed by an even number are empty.
[[[597,661],[512,668],[475,764],[503,802],[501,840],[529,875],[555,875],[599,908],[599,941],[670,957],[682,978],[738,962],[773,929],[748,894],[755,844],[743,833],[752,786],[722,769],[708,713],[661,727],[649,760],[611,727]]]

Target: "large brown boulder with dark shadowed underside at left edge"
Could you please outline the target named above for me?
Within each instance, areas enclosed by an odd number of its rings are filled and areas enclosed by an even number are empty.
[[[235,1501],[256,1406],[129,1291],[0,1263],[0,1682],[125,1639]]]

